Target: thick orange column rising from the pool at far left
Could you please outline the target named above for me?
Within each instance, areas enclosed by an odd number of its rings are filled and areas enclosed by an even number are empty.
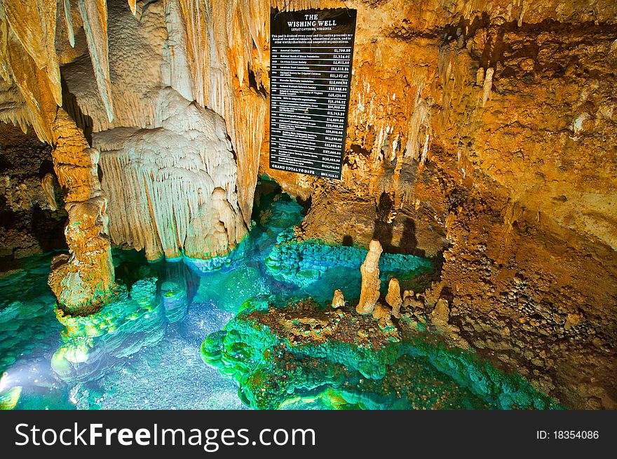
[[[99,152],[61,108],[53,124],[52,157],[60,186],[66,191],[69,220],[65,227],[70,255],[53,259],[49,286],[68,312],[100,306],[114,284],[107,232],[107,200],[97,177]]]

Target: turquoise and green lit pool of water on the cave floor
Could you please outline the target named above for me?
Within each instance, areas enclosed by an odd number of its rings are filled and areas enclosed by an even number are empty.
[[[359,267],[366,255],[361,248],[296,241],[292,228],[301,222],[301,206],[278,192],[257,196],[250,237],[217,270],[182,261],[151,263],[142,253],[114,251],[120,286],[109,304],[89,317],[55,312],[47,286],[52,254],[22,260],[19,270],[0,274],[0,407],[509,406],[499,402],[501,392],[508,392],[501,376],[487,377],[484,367],[452,359],[439,347],[399,340],[392,352],[367,350],[358,357],[332,338],[325,345],[292,349],[273,328],[249,316],[261,314],[260,305],[266,312],[273,304],[285,310],[290,298],[307,297],[320,314],[335,288],[353,302],[360,295]],[[386,254],[380,268],[384,288],[396,275],[402,288],[417,291],[431,264]],[[269,319],[265,314],[259,320]],[[369,319],[362,320],[371,326]],[[276,357],[268,346],[287,346],[288,352]],[[347,354],[355,357],[341,359]],[[358,359],[364,363],[358,366]],[[367,361],[379,368],[373,379],[366,377]],[[474,378],[489,388],[477,389],[481,384]],[[289,383],[267,384],[280,380]],[[515,386],[510,392],[531,391]],[[256,387],[266,396],[255,396]],[[537,407],[543,406],[548,405]]]

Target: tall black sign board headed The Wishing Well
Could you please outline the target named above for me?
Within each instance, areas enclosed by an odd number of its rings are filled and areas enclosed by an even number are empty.
[[[341,178],[355,10],[270,16],[270,167]]]

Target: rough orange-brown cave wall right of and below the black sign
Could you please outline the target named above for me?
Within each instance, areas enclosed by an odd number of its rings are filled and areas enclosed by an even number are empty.
[[[262,149],[311,203],[299,237],[442,257],[421,295],[452,330],[567,406],[616,408],[616,5],[345,5],[343,179]]]

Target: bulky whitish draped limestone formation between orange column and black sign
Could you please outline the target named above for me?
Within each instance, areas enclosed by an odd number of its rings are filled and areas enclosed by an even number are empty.
[[[93,135],[111,241],[144,248],[149,260],[226,255],[248,228],[224,121],[171,89],[159,93],[155,112],[149,129]]]

